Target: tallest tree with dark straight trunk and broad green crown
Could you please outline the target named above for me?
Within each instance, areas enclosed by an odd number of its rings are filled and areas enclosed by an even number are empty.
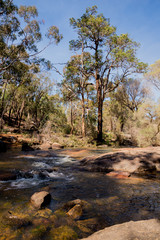
[[[87,8],[78,19],[70,19],[71,26],[77,30],[78,39],[72,40],[74,50],[89,49],[94,66],[93,73],[98,105],[97,141],[102,141],[103,102],[107,93],[114,91],[132,73],[143,72],[146,65],[136,58],[139,46],[128,34],[116,34],[110,20],[97,13],[97,7]]]

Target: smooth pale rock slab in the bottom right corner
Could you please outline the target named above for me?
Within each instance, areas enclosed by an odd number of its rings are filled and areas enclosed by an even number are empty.
[[[159,240],[160,221],[157,219],[117,224],[94,233],[83,240]]]

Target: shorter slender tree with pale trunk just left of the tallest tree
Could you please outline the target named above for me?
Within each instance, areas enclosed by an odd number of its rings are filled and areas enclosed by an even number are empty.
[[[72,56],[64,69],[64,79],[62,83],[66,89],[65,93],[68,92],[67,96],[70,100],[80,99],[81,101],[83,137],[86,135],[87,87],[91,85],[91,83],[89,83],[89,79],[92,74],[90,63],[91,56],[88,52]]]

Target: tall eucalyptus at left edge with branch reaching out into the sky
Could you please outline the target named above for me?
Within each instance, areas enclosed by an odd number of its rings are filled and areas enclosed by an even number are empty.
[[[15,84],[16,89],[25,81],[30,81],[30,75],[40,71],[42,64],[50,68],[50,62],[38,55],[49,45],[58,44],[62,37],[59,29],[51,26],[46,32],[48,43],[39,50],[37,44],[42,40],[42,34],[36,7],[18,8],[12,0],[0,0],[1,123],[6,110],[4,98],[7,85]],[[7,105],[10,100],[8,99]]]

